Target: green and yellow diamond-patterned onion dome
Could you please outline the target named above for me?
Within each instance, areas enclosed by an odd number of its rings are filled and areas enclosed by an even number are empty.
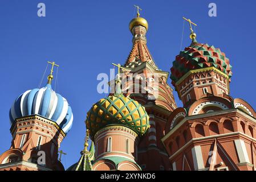
[[[144,135],[149,128],[149,117],[145,107],[139,102],[123,94],[108,96],[96,102],[88,111],[86,127],[91,137],[105,126],[123,125],[134,130],[138,135]]]

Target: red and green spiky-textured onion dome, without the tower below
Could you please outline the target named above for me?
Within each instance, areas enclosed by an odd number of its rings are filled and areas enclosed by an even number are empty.
[[[193,39],[192,44],[176,56],[176,59],[173,61],[173,67],[170,69],[170,78],[172,79],[173,86],[176,86],[176,82],[193,69],[214,67],[231,78],[232,67],[225,53],[214,46],[197,43],[196,35],[194,37],[191,35],[190,38]]]

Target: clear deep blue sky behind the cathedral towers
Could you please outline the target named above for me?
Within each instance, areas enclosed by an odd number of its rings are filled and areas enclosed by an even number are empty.
[[[37,16],[39,2],[46,4],[45,18]],[[210,2],[217,4],[217,17],[208,16]],[[67,168],[78,161],[86,113],[105,97],[97,93],[96,77],[109,73],[112,62],[123,64],[132,48],[128,24],[136,16],[133,5],[141,6],[141,16],[148,20],[148,47],[160,69],[172,67],[181,46],[182,16],[188,17],[198,24],[198,42],[220,47],[229,57],[231,96],[256,108],[256,1],[1,0],[1,154],[11,144],[11,104],[19,94],[38,86],[46,61],[54,60],[60,64],[56,91],[67,98],[74,113],[72,129],[61,144],[68,154],[62,162]],[[189,45],[188,36],[186,24],[182,48]]]

